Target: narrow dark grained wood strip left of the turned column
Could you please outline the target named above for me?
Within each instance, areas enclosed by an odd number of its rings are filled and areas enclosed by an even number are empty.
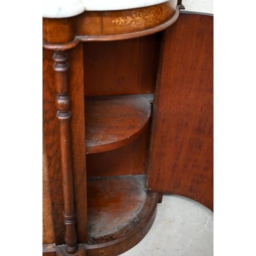
[[[42,118],[45,134],[46,155],[51,190],[52,214],[56,245],[65,243],[63,233],[63,199],[61,163],[59,148],[59,126],[55,107],[55,80],[53,71],[53,51],[43,49],[43,86],[42,86]]]

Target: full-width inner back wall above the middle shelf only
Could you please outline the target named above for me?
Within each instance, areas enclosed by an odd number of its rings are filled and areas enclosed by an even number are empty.
[[[160,36],[84,42],[84,96],[154,93]]]

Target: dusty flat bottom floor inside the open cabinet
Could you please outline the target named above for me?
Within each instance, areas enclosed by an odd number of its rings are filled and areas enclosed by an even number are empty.
[[[129,226],[130,219],[145,203],[144,187],[145,175],[88,179],[90,244],[103,242],[105,236],[120,232],[120,227]]]

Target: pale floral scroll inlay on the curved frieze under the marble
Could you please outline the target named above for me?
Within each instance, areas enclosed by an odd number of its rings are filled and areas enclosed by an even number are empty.
[[[141,12],[132,12],[131,16],[118,17],[112,20],[113,24],[116,25],[128,25],[131,24],[131,27],[135,25],[140,25],[143,27],[145,24],[152,25],[160,23],[165,20],[172,13],[172,9],[169,5],[164,4],[158,7],[151,7],[150,9],[143,9]]]

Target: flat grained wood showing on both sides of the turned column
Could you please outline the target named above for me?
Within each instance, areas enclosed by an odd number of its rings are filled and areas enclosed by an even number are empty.
[[[86,146],[84,127],[84,92],[82,45],[68,51],[69,85],[71,98],[71,152],[73,160],[74,200],[77,219],[78,243],[87,242],[86,212]],[[59,150],[59,126],[55,107],[55,82],[53,71],[53,52],[43,51],[43,127],[46,140],[49,183],[53,207],[53,222],[56,245],[63,244],[64,224],[62,217],[62,179]],[[78,225],[79,223],[79,225]]]

